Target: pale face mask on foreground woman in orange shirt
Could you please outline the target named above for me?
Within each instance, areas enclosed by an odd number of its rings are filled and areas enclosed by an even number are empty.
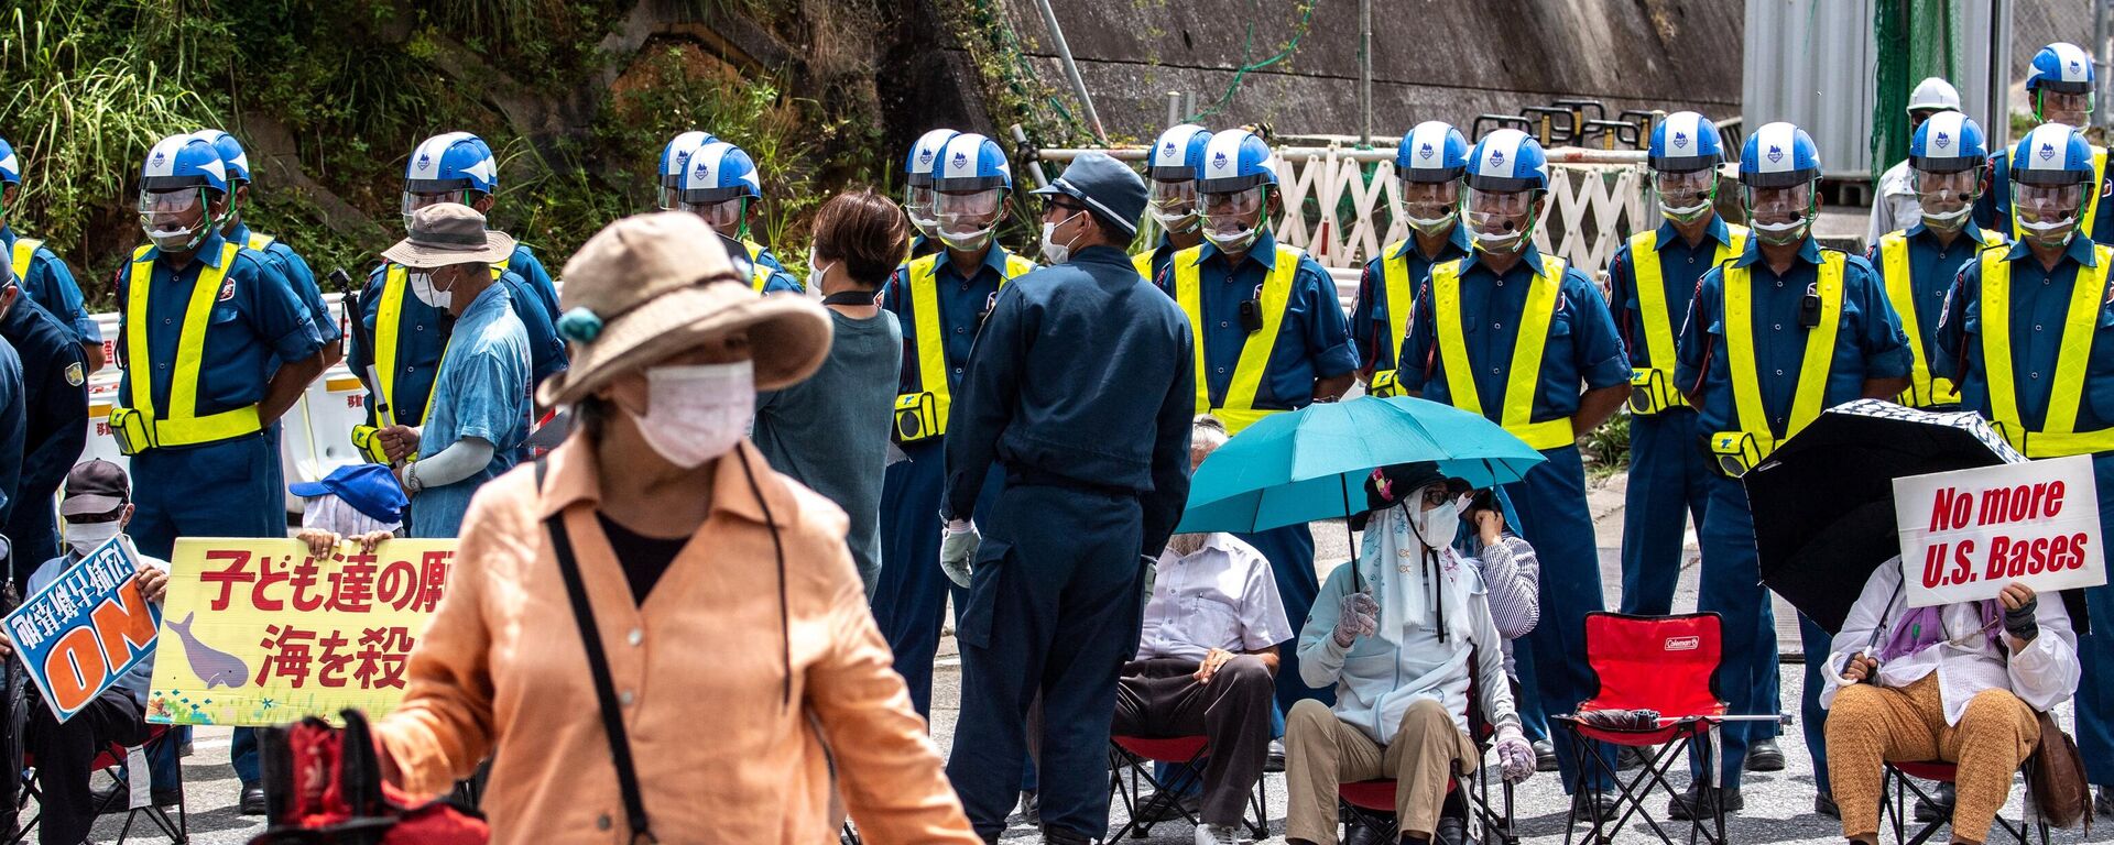
[[[689,363],[647,370],[638,435],[668,463],[696,469],[734,448],[757,412],[755,363]]]

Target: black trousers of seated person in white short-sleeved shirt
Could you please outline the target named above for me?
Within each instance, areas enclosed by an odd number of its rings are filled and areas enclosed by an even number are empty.
[[[1205,735],[1203,822],[1241,824],[1247,792],[1271,756],[1271,699],[1277,682],[1260,657],[1239,655],[1199,684],[1197,661],[1152,657],[1123,668],[1114,731],[1127,737]]]

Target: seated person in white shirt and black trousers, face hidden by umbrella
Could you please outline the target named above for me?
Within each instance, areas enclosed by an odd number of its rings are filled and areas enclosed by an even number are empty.
[[[1190,467],[1226,444],[1199,416]],[[1271,562],[1232,534],[1175,534],[1154,564],[1137,659],[1116,687],[1114,735],[1209,739],[1199,845],[1232,843],[1271,748],[1277,644],[1292,623]]]

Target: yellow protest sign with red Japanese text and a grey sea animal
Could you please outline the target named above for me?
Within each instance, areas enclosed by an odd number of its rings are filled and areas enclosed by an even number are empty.
[[[283,725],[395,710],[412,644],[440,604],[455,541],[180,539],[148,695],[159,725]]]

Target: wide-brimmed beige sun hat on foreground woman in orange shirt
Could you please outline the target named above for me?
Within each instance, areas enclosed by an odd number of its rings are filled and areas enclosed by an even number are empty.
[[[761,296],[734,273],[717,232],[693,213],[617,220],[564,262],[558,336],[571,365],[537,389],[569,406],[617,374],[729,332],[748,334],[759,391],[812,376],[829,357],[829,313],[805,296]]]

